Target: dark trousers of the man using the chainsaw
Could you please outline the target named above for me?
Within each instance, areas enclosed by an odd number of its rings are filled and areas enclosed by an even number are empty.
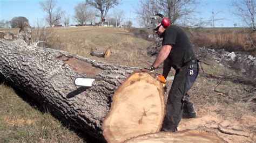
[[[193,75],[190,75],[192,65]],[[193,104],[189,101],[186,93],[196,81],[198,75],[198,63],[194,62],[190,65],[177,69],[171,90],[166,103],[166,113],[161,131],[176,132],[178,124],[182,118],[184,105],[186,108],[193,108]],[[184,104],[184,99],[185,103]]]

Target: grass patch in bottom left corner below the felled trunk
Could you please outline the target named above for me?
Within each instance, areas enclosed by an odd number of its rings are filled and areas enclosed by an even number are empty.
[[[25,95],[23,95],[25,96]],[[0,84],[0,142],[83,142],[47,109],[22,99],[5,84]]]

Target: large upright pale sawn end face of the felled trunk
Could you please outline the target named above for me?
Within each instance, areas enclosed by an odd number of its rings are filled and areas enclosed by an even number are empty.
[[[164,92],[148,73],[133,73],[117,89],[103,122],[108,142],[122,142],[140,134],[158,132],[164,118]]]

